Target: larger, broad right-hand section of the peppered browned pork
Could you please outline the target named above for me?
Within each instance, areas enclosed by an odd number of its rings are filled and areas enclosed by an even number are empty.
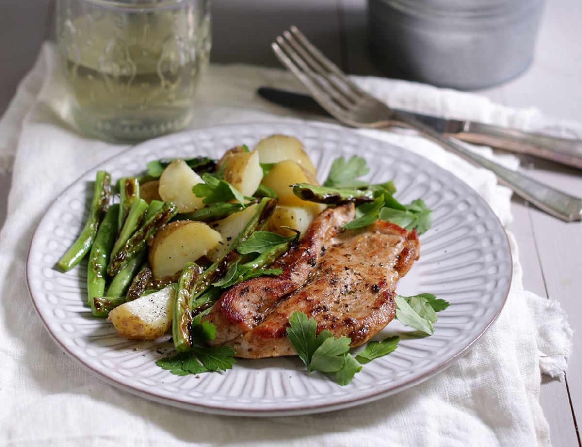
[[[330,242],[300,288],[268,309],[260,324],[228,342],[235,356],[295,354],[286,327],[296,311],[315,319],[318,332],[328,329],[334,337],[352,338],[352,346],[367,342],[394,318],[396,282],[420,254],[416,231],[377,221]]]

